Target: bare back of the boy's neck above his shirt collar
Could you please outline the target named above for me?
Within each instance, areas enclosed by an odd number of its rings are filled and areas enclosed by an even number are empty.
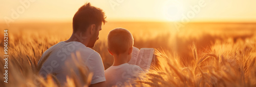
[[[122,64],[128,63],[128,61],[127,61],[128,57],[129,57],[128,54],[122,53],[122,54],[113,55],[113,56],[114,56],[113,66],[118,66],[118,65],[122,65]]]

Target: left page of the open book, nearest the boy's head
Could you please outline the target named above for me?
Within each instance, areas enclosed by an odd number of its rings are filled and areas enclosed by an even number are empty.
[[[128,62],[128,64],[131,64],[131,65],[135,65],[136,64],[139,52],[140,52],[140,49],[138,49],[136,47],[133,47],[132,58]]]

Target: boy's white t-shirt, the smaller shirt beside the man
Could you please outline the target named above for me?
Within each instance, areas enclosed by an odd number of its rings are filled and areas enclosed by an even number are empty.
[[[107,86],[125,86],[126,83],[133,84],[133,80],[136,79],[141,72],[143,72],[143,70],[139,66],[127,63],[111,66],[105,70],[105,82]]]

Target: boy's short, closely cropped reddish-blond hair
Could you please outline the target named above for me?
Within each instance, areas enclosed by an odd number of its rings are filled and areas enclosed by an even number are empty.
[[[115,28],[108,35],[108,47],[112,53],[120,54],[134,44],[133,35],[124,28]]]

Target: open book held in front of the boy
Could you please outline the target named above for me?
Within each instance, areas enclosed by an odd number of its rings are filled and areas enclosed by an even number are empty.
[[[155,61],[154,48],[141,48],[133,47],[132,58],[128,62],[131,65],[139,66],[143,71],[149,70],[152,61]]]

